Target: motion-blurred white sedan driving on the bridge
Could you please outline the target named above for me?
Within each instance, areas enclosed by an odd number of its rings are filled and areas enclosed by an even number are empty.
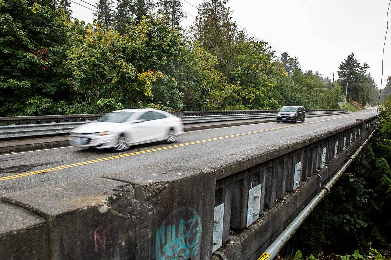
[[[97,122],[76,127],[69,142],[78,147],[129,149],[131,145],[165,140],[173,143],[183,134],[179,117],[154,109],[124,109],[107,113]]]

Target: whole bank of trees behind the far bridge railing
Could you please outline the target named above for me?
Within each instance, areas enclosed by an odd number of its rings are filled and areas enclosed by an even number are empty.
[[[181,34],[177,0],[158,1],[158,14],[151,0],[119,0],[116,11],[113,3],[98,0],[98,23],[85,25],[70,20],[69,0],[0,0],[0,113],[332,109],[341,101],[338,84],[328,89],[297,57],[284,52],[279,61],[267,42],[238,31],[227,0],[199,5],[193,35]]]

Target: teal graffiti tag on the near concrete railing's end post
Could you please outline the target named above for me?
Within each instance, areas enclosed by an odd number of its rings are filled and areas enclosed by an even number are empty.
[[[155,237],[157,260],[197,258],[201,219],[190,207],[174,210],[161,223]]]

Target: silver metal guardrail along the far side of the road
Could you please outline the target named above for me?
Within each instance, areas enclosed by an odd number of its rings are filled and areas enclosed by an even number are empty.
[[[327,110],[327,111],[306,111],[306,115],[330,114],[330,113],[346,113],[346,110]],[[258,113],[258,114],[237,114],[237,115],[207,115],[207,116],[188,116],[181,117],[184,124],[203,123],[203,122],[219,122],[230,120],[245,120],[245,119],[262,119],[276,117],[277,113]],[[88,115],[89,118],[91,115]],[[95,115],[95,118],[97,116]],[[99,118],[99,117],[97,117]],[[95,119],[96,120],[96,119]],[[92,121],[92,120],[88,120]],[[52,136],[58,134],[67,134],[75,127],[88,122],[63,122],[50,124],[24,124],[0,126],[0,140]]]

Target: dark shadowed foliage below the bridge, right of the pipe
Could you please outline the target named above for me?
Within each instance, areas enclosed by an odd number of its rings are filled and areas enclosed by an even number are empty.
[[[365,149],[365,161],[356,160],[348,168],[293,236],[294,246],[306,254],[341,254],[368,241],[376,248],[390,250],[391,98],[386,99],[379,112],[380,123],[371,145]],[[364,259],[358,251],[341,257]]]

